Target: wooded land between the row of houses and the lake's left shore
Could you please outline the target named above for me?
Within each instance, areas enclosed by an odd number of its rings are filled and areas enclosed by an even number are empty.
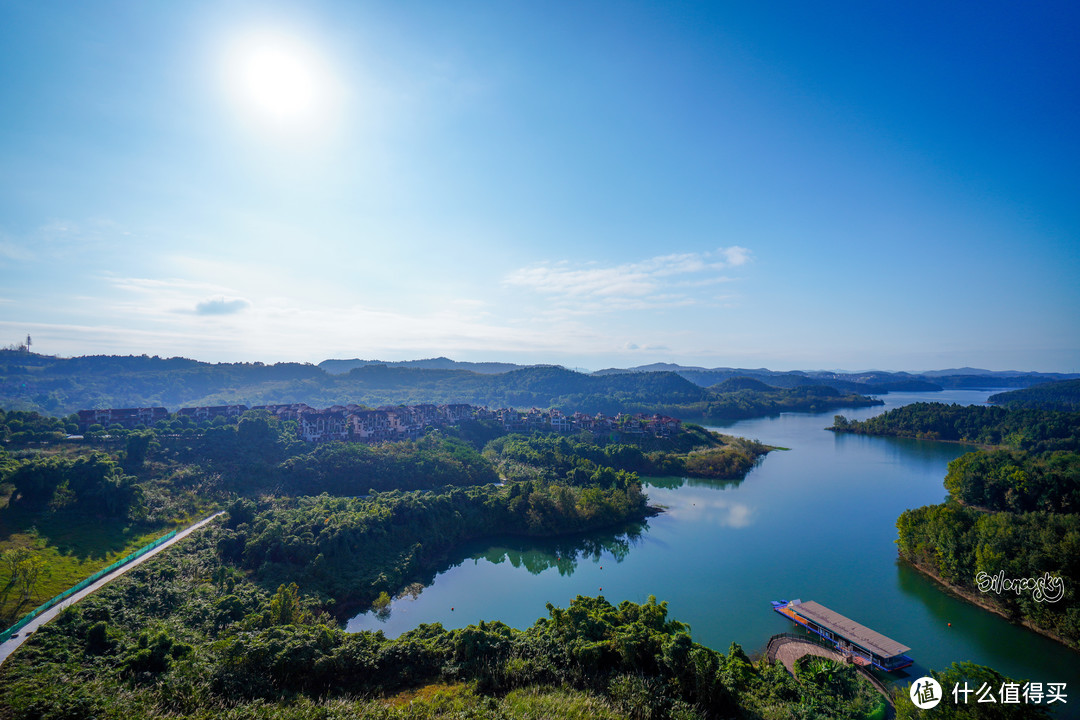
[[[366,566],[342,547],[374,541],[365,540],[366,530],[330,524],[336,515],[327,503],[338,499],[366,499],[380,508],[378,517],[395,517],[392,527],[378,526],[388,538],[416,530],[404,518],[424,518],[423,527],[435,534],[423,539],[422,552],[409,543],[400,548],[404,559],[387,575],[396,578],[400,568],[419,572],[447,548],[477,536],[477,528],[487,534],[551,535],[639,521],[649,512],[639,473],[740,479],[769,450],[689,424],[671,437],[613,440],[590,433],[508,434],[495,421],[464,420],[416,439],[377,445],[302,443],[295,422],[255,410],[232,420],[201,422],[173,416],[153,427],[113,426],[79,439],[67,439],[58,430],[65,424],[33,412],[0,411],[0,437],[6,448],[0,449],[0,528],[5,531],[0,555],[12,559],[10,567],[0,565],[0,583],[6,576],[10,587],[28,576],[29,566],[25,571],[17,566],[35,553],[52,563],[46,570],[56,570],[52,580],[50,573],[39,573],[40,582],[26,593],[0,592],[0,624],[66,589],[59,586],[63,579],[77,572],[68,567],[69,558],[81,555],[79,568],[96,569],[87,567],[91,558],[79,545],[105,547],[97,561],[104,567],[106,556],[119,557],[134,538],[162,532],[237,498],[259,503],[259,513],[272,511],[273,519],[259,515],[257,526],[262,542],[278,548],[260,555],[252,567],[238,555],[233,559],[239,565],[270,572],[281,561],[278,572],[284,576],[295,572],[289,563],[320,557],[322,572],[334,568],[340,581],[324,595],[356,603],[372,598],[356,590],[363,583],[354,583],[350,573],[366,578]],[[293,522],[288,518],[301,512],[296,503],[316,502],[298,499],[312,497],[324,498],[318,501],[325,521],[320,530],[337,530],[339,544],[324,546],[323,532],[308,545],[296,540],[306,536],[302,531],[265,533],[264,526],[287,530]],[[457,525],[441,525],[444,511]],[[368,530],[376,527],[370,519],[365,524]],[[83,528],[82,535],[66,531],[75,527]],[[108,542],[98,536],[107,534],[106,528],[111,528]],[[65,538],[68,549],[50,549],[59,542],[57,536]],[[338,559],[350,569],[337,568]]]

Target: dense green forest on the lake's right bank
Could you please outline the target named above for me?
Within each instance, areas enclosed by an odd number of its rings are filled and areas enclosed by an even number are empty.
[[[1080,649],[1080,412],[921,403],[862,422],[837,416],[831,430],[988,446],[949,463],[944,504],[900,516],[900,554],[964,597]],[[995,592],[986,580],[995,576],[1057,578],[1063,590],[1055,601]]]

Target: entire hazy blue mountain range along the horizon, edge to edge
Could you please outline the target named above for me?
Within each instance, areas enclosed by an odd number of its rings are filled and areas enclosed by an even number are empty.
[[[382,363],[201,363],[183,357],[53,357],[0,351],[0,408],[69,415],[103,407],[307,403],[370,407],[468,403],[584,412],[662,412],[735,419],[876,403],[868,395],[945,388],[1027,388],[1080,376],[773,371],[653,364],[593,373],[552,365],[459,363],[446,357]],[[983,372],[983,371],[978,371]]]

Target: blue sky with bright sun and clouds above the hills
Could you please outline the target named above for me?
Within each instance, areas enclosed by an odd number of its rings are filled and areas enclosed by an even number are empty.
[[[1078,27],[0,0],[0,344],[1080,371]]]

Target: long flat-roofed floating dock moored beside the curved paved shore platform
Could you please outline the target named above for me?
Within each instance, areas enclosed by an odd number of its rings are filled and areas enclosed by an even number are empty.
[[[915,663],[905,655],[910,648],[887,638],[865,625],[845,617],[823,604],[808,600],[773,600],[772,609],[801,625],[811,633],[828,640],[836,649],[858,665],[877,667],[892,673]]]

